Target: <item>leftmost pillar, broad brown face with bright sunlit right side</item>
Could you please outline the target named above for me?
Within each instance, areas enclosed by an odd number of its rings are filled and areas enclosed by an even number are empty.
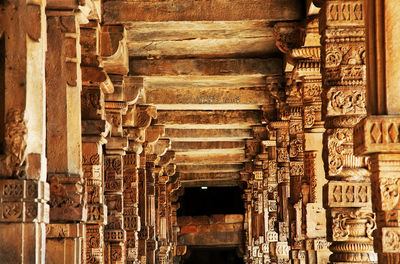
[[[45,1],[0,4],[0,259],[4,263],[45,263],[49,221],[45,5]]]

